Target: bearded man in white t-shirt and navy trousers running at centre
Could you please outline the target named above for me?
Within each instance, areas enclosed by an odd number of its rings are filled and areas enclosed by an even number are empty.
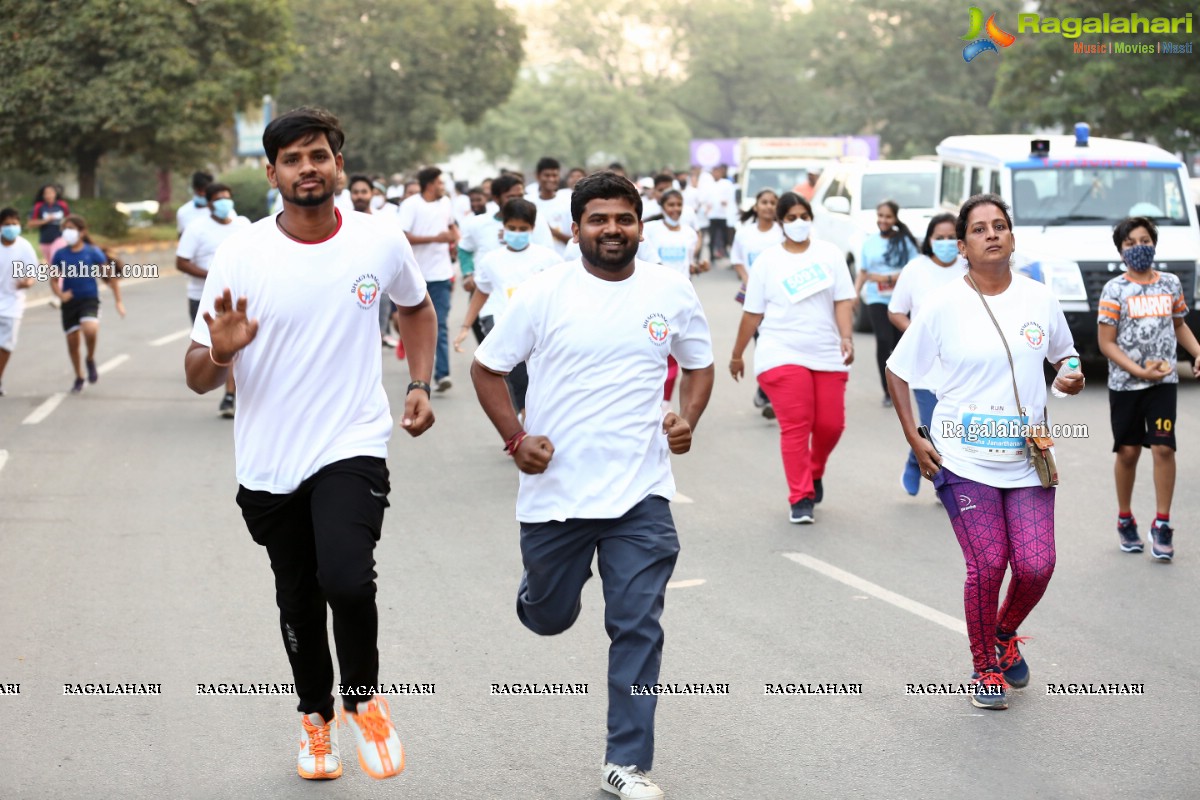
[[[652,800],[662,796],[646,775],[654,760],[659,619],[679,553],[670,453],[691,449],[713,390],[713,345],[691,282],[635,260],[642,200],[632,184],[613,173],[584,178],[571,218],[582,259],[521,284],[475,351],[472,378],[521,470],[517,616],[541,636],[569,628],[599,554],[611,640],[601,788]],[[682,413],[664,416],[668,354],[683,371]],[[522,361],[524,426],[504,381]]]

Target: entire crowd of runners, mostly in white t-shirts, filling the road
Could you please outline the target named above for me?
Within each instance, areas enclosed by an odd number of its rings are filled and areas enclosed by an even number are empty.
[[[469,378],[497,447],[512,458],[524,566],[515,576],[516,610],[526,627],[568,630],[598,558],[611,639],[600,782],[620,798],[662,796],[648,776],[656,696],[630,687],[659,678],[660,615],[679,552],[670,456],[690,450],[718,379],[692,285],[713,269],[733,269],[742,281],[727,300],[742,303],[740,324],[718,344],[731,348],[733,380],[748,375],[752,351],[757,386],[746,402],[778,420],[792,523],[814,523],[823,500],[826,467],[846,427],[862,306],[875,330],[883,403],[898,415],[894,435],[911,447],[896,464],[899,482],[916,495],[930,481],[962,548],[971,702],[1003,709],[1007,690],[1028,684],[1019,628],[1055,567],[1044,369],[1057,371],[1052,386],[1064,396],[1080,392],[1084,377],[1052,291],[1010,267],[1015,242],[1000,197],[976,196],[916,231],[894,203],[881,203],[877,234],[852,273],[836,247],[812,237],[810,186],[764,190],[743,213],[724,168],[662,169],[635,181],[619,164],[589,173],[546,157],[532,180],[505,172],[455,188],[437,167],[412,180],[346,175],[343,143],[337,120],[320,109],[283,114],[264,134],[272,213],[251,223],[229,186],[197,173],[176,215],[176,266],[187,276],[193,324],[186,381],[197,392],[222,390],[218,411],[234,419],[236,501],[275,575],[302,715],[300,776],[342,774],[338,729],[371,776],[404,768],[388,703],[372,691],[374,546],[389,506],[394,428],[382,347],[407,361],[403,432],[428,432],[431,393],[461,391]],[[24,218],[0,210],[5,264],[37,258],[20,237]],[[64,267],[112,260],[53,193],[40,197],[34,218],[43,231],[56,227],[47,245],[61,236],[42,259]],[[1154,222],[1140,217],[1114,230],[1126,269],[1104,288],[1098,338],[1109,360],[1117,545],[1144,549],[1130,501],[1148,449],[1151,554],[1170,561],[1176,349],[1200,365],[1200,343],[1183,324],[1178,278],[1153,266],[1157,236]],[[30,283],[0,276],[0,378]],[[79,391],[96,380],[106,281],[52,283]],[[124,314],[119,285],[109,285]],[[466,313],[451,330],[456,294]],[[450,348],[466,351],[469,338],[469,375],[454,375]],[[1200,366],[1193,371],[1200,377]]]

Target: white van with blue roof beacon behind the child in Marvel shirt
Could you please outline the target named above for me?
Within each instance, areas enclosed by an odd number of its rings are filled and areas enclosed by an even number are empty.
[[[1000,194],[1012,206],[1016,251],[1037,261],[1085,355],[1097,355],[1096,315],[1104,284],[1122,271],[1112,228],[1130,216],[1158,225],[1156,269],[1183,283],[1196,306],[1200,227],[1187,167],[1150,144],[1075,136],[956,136],[937,146],[940,201],[956,213],[973,194]],[[1196,314],[1189,314],[1196,329]]]

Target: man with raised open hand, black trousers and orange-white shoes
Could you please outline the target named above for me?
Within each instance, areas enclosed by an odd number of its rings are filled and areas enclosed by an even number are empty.
[[[414,378],[402,427],[433,425],[428,378],[437,320],[412,248],[395,225],[334,206],[344,137],[328,112],[299,108],[263,133],[266,178],[283,211],[221,245],[185,362],[208,392],[238,378],[238,505],[275,573],[280,627],[301,717],[296,771],[342,774],[334,723],[334,614],[342,696],[359,764],[398,775],[404,752],[378,694],[374,546],[388,507],[391,413],[383,387],[377,303],[400,307]]]

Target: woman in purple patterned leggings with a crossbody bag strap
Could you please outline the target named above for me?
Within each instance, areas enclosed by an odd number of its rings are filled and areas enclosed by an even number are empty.
[[[967,275],[913,318],[888,360],[888,389],[966,558],[964,606],[977,684],[971,702],[1004,709],[1008,686],[1030,680],[1016,628],[1055,566],[1055,491],[1043,488],[1028,459],[1022,423],[1046,421],[1043,363],[1057,367],[1076,353],[1054,293],[1009,266],[1015,241],[1001,198],[967,200],[955,233]],[[926,439],[913,421],[908,385],[937,363],[941,383]],[[1056,385],[1076,395],[1084,377],[1057,378]],[[1008,595],[997,610],[1009,565]]]

